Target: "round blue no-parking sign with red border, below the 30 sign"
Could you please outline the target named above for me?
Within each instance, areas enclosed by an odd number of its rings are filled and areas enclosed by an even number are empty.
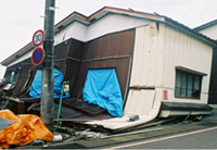
[[[31,54],[31,62],[35,65],[40,64],[43,61],[44,51],[42,48],[36,48]]]

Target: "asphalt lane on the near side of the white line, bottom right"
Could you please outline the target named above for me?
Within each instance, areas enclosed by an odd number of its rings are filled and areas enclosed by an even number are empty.
[[[217,149],[217,126],[101,149]]]

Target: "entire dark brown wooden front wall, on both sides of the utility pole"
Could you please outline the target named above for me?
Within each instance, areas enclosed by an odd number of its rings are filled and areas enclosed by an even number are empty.
[[[54,66],[64,74],[64,80],[69,80],[72,98],[82,97],[88,70],[115,68],[124,97],[127,92],[133,45],[135,29],[105,35],[86,43],[68,39],[55,46]],[[29,71],[33,68],[36,71],[41,65],[35,66],[28,59],[13,65],[8,71],[17,67],[21,67],[21,74],[13,90],[13,95],[16,96],[21,93]],[[5,74],[5,77],[9,75]]]

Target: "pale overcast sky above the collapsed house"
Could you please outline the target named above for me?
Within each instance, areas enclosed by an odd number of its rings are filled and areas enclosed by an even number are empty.
[[[0,0],[0,62],[43,29],[46,0]],[[191,28],[217,20],[217,0],[56,0],[55,24],[77,11],[89,16],[103,7],[132,9],[171,17]],[[0,78],[5,67],[0,66]]]

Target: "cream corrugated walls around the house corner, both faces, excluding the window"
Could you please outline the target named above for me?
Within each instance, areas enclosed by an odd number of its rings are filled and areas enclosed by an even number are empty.
[[[165,24],[137,28],[125,113],[149,114],[152,104],[158,105],[163,100],[164,89],[170,102],[207,103],[212,52],[212,46]],[[206,74],[202,79],[201,100],[175,98],[176,66]],[[157,99],[154,95],[149,97],[152,92]]]

